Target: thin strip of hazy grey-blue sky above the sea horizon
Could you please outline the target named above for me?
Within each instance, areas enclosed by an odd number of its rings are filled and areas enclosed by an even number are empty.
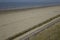
[[[60,0],[0,0],[0,2],[42,2],[42,1],[60,1]]]

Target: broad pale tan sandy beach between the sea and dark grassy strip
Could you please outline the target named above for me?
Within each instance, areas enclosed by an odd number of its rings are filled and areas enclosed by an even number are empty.
[[[32,28],[56,15],[60,15],[60,6],[0,11],[0,40]]]

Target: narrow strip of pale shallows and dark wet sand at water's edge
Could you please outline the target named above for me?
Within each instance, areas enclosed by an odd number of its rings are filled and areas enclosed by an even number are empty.
[[[11,9],[2,9],[2,11],[24,11],[24,10],[30,10],[30,9],[37,9],[37,8],[46,8],[46,7],[55,7],[60,5],[47,5],[47,6],[39,6],[39,7],[27,7],[27,8],[11,8]]]

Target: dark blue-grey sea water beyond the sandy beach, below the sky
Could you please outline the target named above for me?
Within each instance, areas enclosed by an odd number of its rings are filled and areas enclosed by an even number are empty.
[[[1,9],[12,9],[12,8],[29,8],[29,7],[39,7],[39,6],[50,6],[50,5],[60,5],[60,2],[0,2]]]

